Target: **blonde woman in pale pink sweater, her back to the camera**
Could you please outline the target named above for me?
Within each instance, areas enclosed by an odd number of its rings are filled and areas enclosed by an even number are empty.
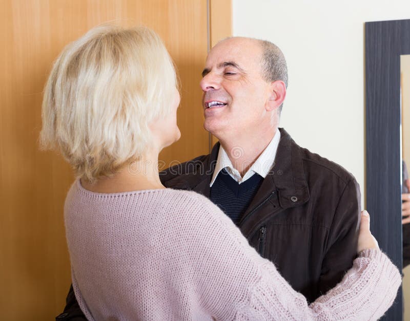
[[[57,58],[44,148],[75,169],[64,215],[75,296],[90,320],[377,319],[401,282],[362,216],[358,258],[308,305],[208,199],[162,186],[180,137],[173,62],[150,29],[103,26]]]

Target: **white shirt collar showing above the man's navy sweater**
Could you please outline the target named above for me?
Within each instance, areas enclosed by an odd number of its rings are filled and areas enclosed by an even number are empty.
[[[244,181],[252,177],[255,173],[259,174],[263,178],[267,177],[275,161],[279,140],[280,132],[277,129],[269,145],[264,149],[262,154],[260,154],[258,159],[255,161],[255,163],[252,164],[251,168],[248,169],[248,171],[245,173],[245,175],[243,175],[243,177],[241,177],[238,170],[233,167],[227,152],[223,149],[222,146],[220,146],[218,158],[215,164],[214,174],[212,176],[211,184],[209,184],[209,186],[212,187],[212,184],[215,182],[216,177],[223,168],[226,168],[229,175],[231,175],[231,177],[239,184],[243,183]],[[238,152],[240,153],[239,149]]]

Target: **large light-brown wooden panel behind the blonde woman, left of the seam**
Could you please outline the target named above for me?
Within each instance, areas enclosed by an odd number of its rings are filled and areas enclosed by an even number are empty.
[[[42,91],[61,49],[112,21],[147,25],[165,40],[182,83],[179,142],[167,163],[208,153],[200,73],[207,54],[202,0],[3,0],[0,4],[0,311],[4,320],[53,319],[64,307],[70,263],[63,204],[73,181],[65,161],[38,151]]]

